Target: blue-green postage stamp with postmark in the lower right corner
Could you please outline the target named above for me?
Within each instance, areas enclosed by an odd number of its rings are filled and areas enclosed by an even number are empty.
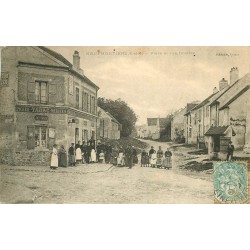
[[[214,195],[219,203],[245,203],[248,199],[247,163],[214,163]]]

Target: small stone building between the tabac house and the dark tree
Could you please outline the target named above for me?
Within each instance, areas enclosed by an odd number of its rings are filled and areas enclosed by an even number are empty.
[[[120,139],[121,124],[109,113],[98,107],[98,139]]]

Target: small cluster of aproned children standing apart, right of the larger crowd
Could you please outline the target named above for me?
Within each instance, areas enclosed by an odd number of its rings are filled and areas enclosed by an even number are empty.
[[[163,152],[161,146],[156,150],[152,146],[149,152],[145,150],[141,153],[141,167],[172,168],[172,152],[169,148]]]

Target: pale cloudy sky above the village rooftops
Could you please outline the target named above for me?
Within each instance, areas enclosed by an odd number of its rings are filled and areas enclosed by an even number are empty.
[[[71,63],[79,51],[84,74],[100,87],[98,96],[126,101],[138,115],[166,117],[202,101],[230,69],[250,72],[249,47],[50,47]]]

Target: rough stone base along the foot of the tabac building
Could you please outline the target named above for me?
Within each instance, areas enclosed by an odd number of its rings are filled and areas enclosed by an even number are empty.
[[[0,151],[0,163],[14,166],[49,166],[50,151]]]

